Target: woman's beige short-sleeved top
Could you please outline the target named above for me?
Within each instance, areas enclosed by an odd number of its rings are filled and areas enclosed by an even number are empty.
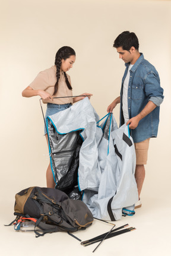
[[[71,84],[71,79],[68,74],[68,81]],[[42,72],[39,72],[37,77],[33,80],[33,82],[29,85],[33,90],[43,90],[53,95],[56,84],[56,66],[52,66],[51,68],[45,69]],[[67,97],[72,96],[72,90],[68,89],[68,86],[65,82],[64,72],[60,71],[60,78],[58,82],[58,91],[53,97]],[[73,103],[72,97],[70,98],[61,98],[61,99],[53,99],[52,100],[43,100],[43,103],[53,103],[53,104],[67,104]]]

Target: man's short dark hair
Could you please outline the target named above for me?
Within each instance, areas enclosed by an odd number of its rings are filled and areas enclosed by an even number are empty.
[[[134,46],[136,50],[139,48],[138,37],[134,32],[124,31],[116,37],[113,47],[122,47],[123,50],[130,50]]]

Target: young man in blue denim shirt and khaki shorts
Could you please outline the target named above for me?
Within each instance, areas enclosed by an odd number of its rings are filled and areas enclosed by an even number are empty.
[[[133,32],[124,31],[115,39],[113,47],[119,58],[125,62],[121,94],[108,106],[112,112],[118,103],[120,108],[120,126],[129,125],[135,143],[136,169],[139,201],[145,178],[144,165],[147,163],[147,151],[151,137],[157,137],[160,104],[163,102],[163,89],[160,87],[159,74],[140,53],[138,38]]]

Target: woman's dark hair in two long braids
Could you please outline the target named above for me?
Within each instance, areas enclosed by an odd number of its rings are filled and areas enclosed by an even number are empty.
[[[55,95],[58,91],[58,83],[59,83],[59,78],[60,78],[60,69],[61,69],[62,59],[64,59],[64,61],[65,61],[65,59],[68,59],[69,56],[71,56],[71,55],[75,55],[75,50],[69,46],[63,46],[62,48],[60,48],[58,50],[58,52],[56,52],[56,56],[55,56],[56,84],[55,84],[55,90],[53,92],[53,95]],[[68,86],[69,90],[72,90],[72,86],[69,83],[68,77],[65,72],[64,72],[64,76],[65,76],[66,86]]]

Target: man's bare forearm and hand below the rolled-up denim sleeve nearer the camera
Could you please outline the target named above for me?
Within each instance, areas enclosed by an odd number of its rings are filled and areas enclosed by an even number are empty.
[[[128,122],[126,122],[126,125],[129,124],[130,129],[137,128],[140,120],[147,116],[149,113],[151,113],[151,111],[153,111],[156,107],[157,105],[151,102],[151,100],[149,100],[144,109],[137,116],[134,116],[134,118],[129,119]]]

